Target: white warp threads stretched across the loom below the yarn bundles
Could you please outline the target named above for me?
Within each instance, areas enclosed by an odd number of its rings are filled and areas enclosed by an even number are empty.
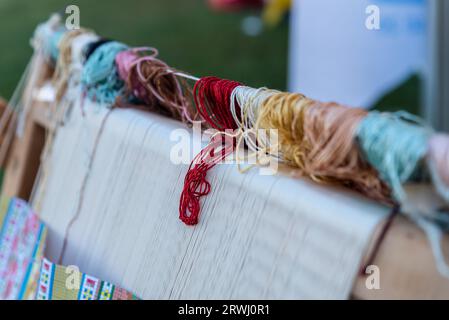
[[[142,298],[349,297],[364,251],[386,209],[358,195],[286,176],[210,171],[200,223],[178,219],[186,165],[170,162],[181,123],[150,113],[75,104],[58,130],[35,204],[56,261],[82,200],[63,261]]]

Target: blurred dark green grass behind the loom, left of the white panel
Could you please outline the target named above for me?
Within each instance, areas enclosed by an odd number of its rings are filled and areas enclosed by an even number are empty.
[[[255,12],[216,13],[205,0],[0,0],[0,96],[9,98],[18,83],[37,24],[69,4],[79,6],[83,27],[131,46],[156,47],[177,69],[286,88],[288,25],[246,36],[242,19]]]

